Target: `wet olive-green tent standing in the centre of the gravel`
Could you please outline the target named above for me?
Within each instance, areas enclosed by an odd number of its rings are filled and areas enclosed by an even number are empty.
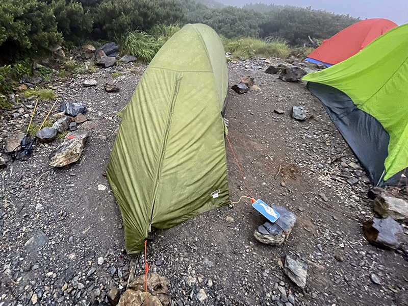
[[[187,24],[159,50],[122,118],[107,177],[123,218],[126,250],[149,227],[169,228],[227,205],[221,116],[228,76],[220,38]]]

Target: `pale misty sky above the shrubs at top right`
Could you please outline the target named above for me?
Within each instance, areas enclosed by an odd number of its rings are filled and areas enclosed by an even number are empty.
[[[263,2],[267,4],[312,6],[337,14],[353,17],[387,18],[398,25],[408,23],[408,0],[218,0],[226,5],[243,6],[245,3]]]

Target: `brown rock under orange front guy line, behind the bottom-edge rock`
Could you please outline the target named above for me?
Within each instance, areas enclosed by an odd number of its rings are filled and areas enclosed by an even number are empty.
[[[163,305],[170,303],[170,291],[167,286],[170,281],[157,273],[147,274],[147,291],[152,295],[157,296]],[[139,275],[137,278],[132,279],[127,289],[134,291],[144,291],[144,275]]]

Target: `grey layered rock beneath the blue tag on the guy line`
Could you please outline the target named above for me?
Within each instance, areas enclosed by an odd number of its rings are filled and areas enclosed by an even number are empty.
[[[296,222],[296,215],[280,206],[272,205],[271,208],[281,215],[277,223],[286,232],[286,238],[289,237]],[[270,245],[281,245],[285,241],[285,233],[276,223],[266,222],[253,231],[253,236],[262,243]]]

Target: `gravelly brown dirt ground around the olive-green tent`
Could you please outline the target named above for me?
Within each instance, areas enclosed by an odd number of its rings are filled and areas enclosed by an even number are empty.
[[[253,70],[253,64],[264,68]],[[266,74],[267,66],[263,60],[228,64],[231,84],[250,75],[262,91],[238,95],[229,89],[225,117],[252,196],[295,213],[292,233],[282,246],[258,242],[253,231],[266,220],[243,199],[232,209],[222,207],[155,231],[147,248],[150,271],[169,278],[177,306],[408,305],[408,261],[363,236],[360,219],[374,216],[367,174],[346,165],[358,160],[305,84]],[[127,104],[144,68],[98,69],[50,86],[62,101],[85,105],[88,119],[104,120]],[[115,71],[123,75],[113,79]],[[86,78],[98,85],[83,87]],[[106,93],[108,80],[121,90]],[[41,121],[51,105],[41,105],[35,119]],[[303,106],[313,117],[302,122],[291,118],[292,106]],[[3,114],[1,141],[29,119]],[[119,124],[114,117],[94,127],[77,163],[54,169],[48,156],[57,144],[36,145],[30,160],[0,170],[0,306],[104,304],[111,288],[125,290],[131,265],[136,275],[143,273],[141,255],[123,254],[120,211],[104,177]],[[229,146],[226,152],[231,199],[237,201],[248,192]],[[347,183],[350,177],[358,183]],[[107,188],[98,190],[98,185]],[[402,225],[408,233],[407,224]],[[31,252],[24,244],[38,231],[49,243]],[[279,266],[287,254],[309,265],[304,290]],[[100,257],[104,263],[99,265]],[[376,278],[380,284],[373,282]],[[202,302],[197,299],[200,289],[207,295]]]

